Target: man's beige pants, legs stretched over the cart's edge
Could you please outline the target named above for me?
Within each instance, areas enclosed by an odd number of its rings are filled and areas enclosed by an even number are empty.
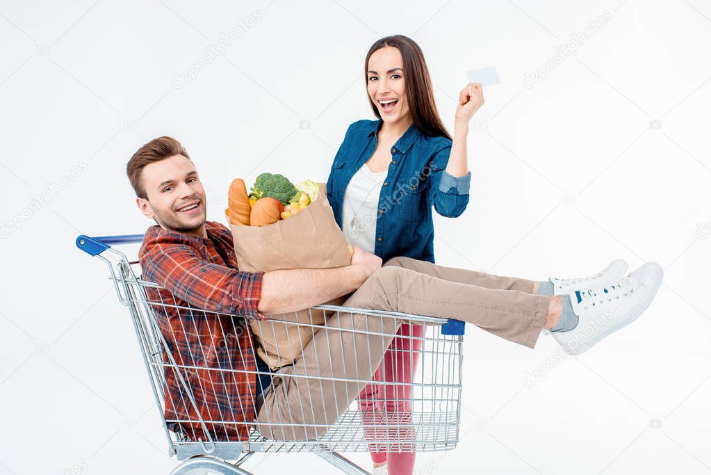
[[[533,348],[550,297],[531,292],[530,280],[395,257],[343,306],[457,319]],[[275,373],[257,414],[262,435],[306,440],[324,434],[378,369],[400,324],[363,314],[331,316],[294,365]]]

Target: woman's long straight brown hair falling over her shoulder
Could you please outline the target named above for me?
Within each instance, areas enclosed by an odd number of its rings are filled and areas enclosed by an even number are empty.
[[[365,56],[365,87],[368,87],[368,61],[370,55],[376,50],[392,46],[400,50],[402,55],[402,70],[405,76],[405,97],[407,105],[410,107],[412,123],[424,134],[434,137],[447,137],[451,140],[447,129],[444,129],[442,120],[439,119],[437,105],[434,103],[434,92],[432,80],[429,78],[429,70],[424,62],[424,55],[415,41],[407,36],[393,35],[380,38],[370,46],[368,55]],[[370,100],[370,96],[368,96]],[[370,100],[370,107],[373,107],[375,116],[380,117],[378,106]]]

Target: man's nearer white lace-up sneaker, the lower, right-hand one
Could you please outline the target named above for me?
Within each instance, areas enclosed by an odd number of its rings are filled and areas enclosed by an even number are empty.
[[[578,324],[570,331],[551,331],[550,334],[565,353],[584,353],[640,316],[654,299],[663,276],[660,265],[647,262],[613,285],[570,292]]]

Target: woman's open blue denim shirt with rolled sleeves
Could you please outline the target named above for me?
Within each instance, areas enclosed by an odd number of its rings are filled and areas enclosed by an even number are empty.
[[[351,124],[333,159],[326,195],[341,229],[346,187],[375,152],[382,123],[360,120]],[[450,150],[447,137],[422,134],[415,124],[390,150],[392,159],[375,220],[375,255],[383,261],[405,256],[434,262],[432,206],[440,215],[456,218],[469,203],[471,172],[457,178],[444,171]]]

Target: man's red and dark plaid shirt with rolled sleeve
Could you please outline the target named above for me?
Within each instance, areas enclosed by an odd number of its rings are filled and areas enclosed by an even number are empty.
[[[204,440],[192,393],[203,419],[212,421],[213,439],[244,440],[255,417],[256,379],[245,319],[264,319],[257,311],[263,272],[240,272],[228,228],[208,221],[205,230],[203,239],[151,226],[139,251],[141,277],[161,287],[144,288],[168,343],[164,352],[179,368],[165,368],[165,417],[172,431]]]

